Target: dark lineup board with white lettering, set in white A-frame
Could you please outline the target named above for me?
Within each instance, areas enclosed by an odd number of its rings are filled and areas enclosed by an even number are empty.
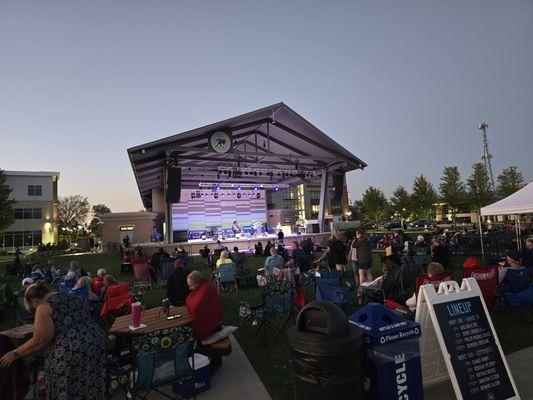
[[[433,306],[463,399],[516,396],[481,298]]]

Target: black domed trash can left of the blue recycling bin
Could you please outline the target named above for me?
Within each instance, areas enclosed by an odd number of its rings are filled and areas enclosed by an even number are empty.
[[[362,332],[344,311],[327,301],[313,301],[287,331],[292,348],[296,400],[362,399]]]

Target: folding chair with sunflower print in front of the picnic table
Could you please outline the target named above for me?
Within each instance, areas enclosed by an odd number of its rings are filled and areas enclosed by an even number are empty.
[[[186,383],[194,386],[194,357],[191,358],[193,365],[189,364],[194,343],[194,333],[190,327],[156,330],[133,339],[132,397],[146,399],[154,391],[175,399],[176,396],[160,390],[163,386],[175,385],[178,398],[185,398],[182,393],[186,392]]]

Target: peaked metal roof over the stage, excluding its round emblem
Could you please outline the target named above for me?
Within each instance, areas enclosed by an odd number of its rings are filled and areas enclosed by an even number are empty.
[[[210,147],[216,131],[231,135],[227,153]],[[128,155],[147,208],[152,189],[163,186],[167,165],[181,167],[183,188],[197,188],[200,182],[298,184],[324,171],[366,167],[284,103],[135,146]]]

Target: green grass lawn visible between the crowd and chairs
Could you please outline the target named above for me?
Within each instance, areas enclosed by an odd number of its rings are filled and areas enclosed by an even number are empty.
[[[86,271],[93,274],[96,273],[98,268],[104,267],[108,273],[115,275],[121,280],[132,280],[131,276],[120,276],[120,255],[118,253],[68,255],[53,257],[53,259],[56,265],[63,270],[67,268],[71,260],[77,260]],[[373,268],[375,274],[379,273],[378,260],[379,255],[375,254]],[[262,266],[262,263],[262,259],[250,258],[248,265],[253,271]],[[207,267],[198,258],[194,260],[191,268],[208,273]],[[454,271],[459,278],[461,271],[460,264],[454,268]],[[13,289],[20,287],[20,282],[18,281],[9,280],[9,283]],[[308,299],[312,299],[313,295],[310,291],[307,291],[306,296],[308,296]],[[160,304],[163,297],[165,297],[164,290],[153,289],[145,293],[144,302],[148,307],[156,306]],[[235,336],[272,398],[275,400],[292,399],[293,376],[290,366],[290,349],[285,336],[271,334],[269,336],[268,346],[264,347],[263,338],[255,337],[256,327],[252,326],[250,321],[241,321],[239,319],[239,303],[241,301],[248,301],[251,304],[257,304],[260,298],[259,290],[256,288],[241,288],[238,293],[223,293],[221,297],[224,322],[227,325],[239,327]],[[353,310],[349,310],[348,312],[351,313]],[[7,311],[3,314],[3,317],[0,322],[2,329],[14,326],[15,314],[13,312]],[[528,314],[526,318],[526,323],[522,322],[519,318],[513,319],[510,329],[504,335],[501,316],[493,316],[494,324],[499,332],[500,341],[506,353],[533,346],[533,316]]]

